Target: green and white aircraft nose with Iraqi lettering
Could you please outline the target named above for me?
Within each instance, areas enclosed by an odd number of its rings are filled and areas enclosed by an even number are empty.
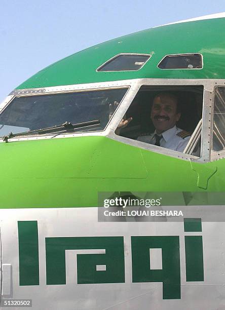
[[[2,102],[1,308],[225,307],[224,28],[219,14],[116,38]],[[163,92],[181,102],[183,152],[137,140]],[[100,220],[101,193],[186,213]]]

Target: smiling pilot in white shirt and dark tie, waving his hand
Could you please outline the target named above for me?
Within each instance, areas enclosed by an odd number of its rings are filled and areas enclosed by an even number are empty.
[[[167,92],[157,94],[151,110],[151,120],[155,131],[152,134],[141,135],[137,137],[137,140],[183,152],[191,134],[176,127],[180,115],[178,99],[174,94]],[[120,130],[131,121],[132,118],[123,119],[118,125],[116,134],[120,134]]]

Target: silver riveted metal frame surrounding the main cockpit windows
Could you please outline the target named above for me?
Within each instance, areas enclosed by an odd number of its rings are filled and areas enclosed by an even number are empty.
[[[211,138],[212,138],[212,103],[214,96],[214,87],[221,86],[225,84],[225,80],[208,80],[208,79],[133,79],[133,80],[123,80],[115,82],[103,82],[103,83],[90,83],[90,84],[80,84],[80,85],[68,85],[68,86],[56,86],[40,89],[25,89],[25,90],[15,90],[13,91],[5,101],[0,105],[0,112],[12,101],[15,96],[29,96],[29,95],[39,95],[39,94],[56,94],[63,92],[72,91],[85,91],[85,90],[100,90],[100,89],[111,89],[120,87],[129,87],[124,99],[120,103],[120,107],[117,108],[113,117],[111,117],[109,123],[107,124],[104,131],[101,132],[86,132],[86,133],[65,133],[65,134],[51,134],[42,136],[30,136],[21,138],[11,138],[8,141],[22,141],[22,140],[37,140],[37,139],[50,139],[50,138],[67,138],[67,137],[80,137],[80,136],[105,136],[110,139],[117,140],[122,143],[126,143],[132,146],[137,146],[142,149],[164,154],[166,156],[186,160],[195,161],[199,163],[210,162],[210,152],[211,149]],[[203,123],[202,123],[202,133],[201,133],[201,156],[195,157],[190,154],[181,153],[174,150],[169,150],[160,146],[147,144],[141,141],[132,140],[129,138],[121,137],[115,134],[123,115],[130,106],[132,100],[136,96],[138,90],[141,86],[204,86],[203,93]],[[0,142],[3,142],[1,140]],[[5,143],[5,142],[4,142]],[[221,154],[220,158],[225,158],[225,151]],[[211,160],[216,160],[211,157]]]

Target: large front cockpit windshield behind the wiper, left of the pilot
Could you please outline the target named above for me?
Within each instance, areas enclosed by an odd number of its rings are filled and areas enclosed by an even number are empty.
[[[47,132],[101,131],[108,123],[109,104],[121,102],[128,87],[15,97],[0,114],[0,136]],[[63,126],[60,126],[63,125]],[[57,128],[56,128],[57,127]]]

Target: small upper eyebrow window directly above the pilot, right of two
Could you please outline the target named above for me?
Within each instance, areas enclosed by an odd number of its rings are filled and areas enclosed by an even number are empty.
[[[161,60],[158,67],[160,69],[202,69],[202,55],[167,55]]]

